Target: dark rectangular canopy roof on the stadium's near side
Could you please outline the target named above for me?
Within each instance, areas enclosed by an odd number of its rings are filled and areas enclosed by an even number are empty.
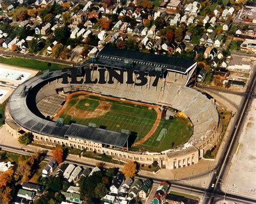
[[[124,147],[129,135],[100,128],[89,128],[85,125],[72,123],[68,131],[66,131],[65,137],[74,137],[96,143]]]

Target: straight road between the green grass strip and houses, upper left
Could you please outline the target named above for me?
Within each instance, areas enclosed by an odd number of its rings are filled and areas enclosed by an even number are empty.
[[[34,59],[34,60],[41,60],[41,61],[47,61],[47,62],[53,62],[63,65],[69,65],[69,66],[78,66],[79,63],[73,62],[73,61],[67,61],[67,60],[59,60],[59,59],[53,59],[48,57],[42,57],[38,55],[30,55],[30,54],[23,54],[23,53],[15,53],[15,52],[8,52],[8,51],[0,51],[0,55],[6,55],[6,56],[15,56],[20,58],[26,58],[26,59]]]

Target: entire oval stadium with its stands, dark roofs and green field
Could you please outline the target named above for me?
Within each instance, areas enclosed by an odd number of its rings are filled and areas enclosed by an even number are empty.
[[[157,160],[167,169],[192,165],[218,137],[219,126],[214,103],[189,88],[196,67],[190,60],[104,47],[78,69],[78,80],[84,68],[92,70],[92,81],[99,77],[99,68],[133,69],[135,82],[138,71],[161,72],[157,86],[152,86],[155,76],[149,75],[144,86],[117,80],[63,84],[61,70],[46,72],[12,93],[6,129],[14,137],[32,132],[35,143],[105,153],[124,162],[151,165]]]

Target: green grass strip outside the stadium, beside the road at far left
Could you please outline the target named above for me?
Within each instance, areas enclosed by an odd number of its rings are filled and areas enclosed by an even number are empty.
[[[56,63],[51,63],[51,66],[48,66],[48,62],[33,60],[33,59],[25,59],[25,58],[1,58],[0,63],[18,67],[25,67],[30,69],[37,69],[39,71],[50,70],[53,71],[55,69],[63,69],[69,67],[68,65],[61,65]]]

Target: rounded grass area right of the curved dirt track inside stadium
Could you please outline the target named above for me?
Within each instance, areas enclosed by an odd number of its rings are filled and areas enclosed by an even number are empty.
[[[157,130],[142,145],[134,147],[148,151],[164,151],[178,147],[187,142],[193,133],[193,128],[187,118],[175,117],[172,120],[161,119]],[[158,141],[159,133],[162,129],[167,129],[166,135]]]

